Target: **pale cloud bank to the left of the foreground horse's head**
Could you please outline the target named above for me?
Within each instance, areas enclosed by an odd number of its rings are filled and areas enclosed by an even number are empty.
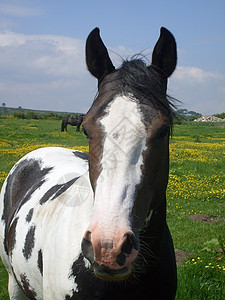
[[[70,37],[0,32],[0,70],[8,106],[86,111],[96,93],[84,41]]]

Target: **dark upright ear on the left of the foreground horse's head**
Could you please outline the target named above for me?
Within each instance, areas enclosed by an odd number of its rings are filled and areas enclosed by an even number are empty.
[[[86,41],[86,64],[89,72],[102,80],[107,74],[115,70],[108,51],[100,37],[99,28],[89,34]]]

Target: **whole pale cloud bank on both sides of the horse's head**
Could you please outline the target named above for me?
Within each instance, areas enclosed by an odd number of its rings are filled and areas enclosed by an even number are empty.
[[[14,107],[86,112],[97,82],[87,71],[84,48],[84,41],[71,37],[0,31],[0,101]],[[116,67],[135,54],[124,46],[109,53]],[[218,113],[225,110],[224,82],[218,72],[178,66],[168,93],[189,110]]]

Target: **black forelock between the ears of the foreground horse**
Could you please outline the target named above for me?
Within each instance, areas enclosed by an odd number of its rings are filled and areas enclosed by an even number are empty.
[[[167,79],[164,74],[153,65],[147,67],[143,59],[124,60],[119,69],[99,83],[100,87],[103,93],[111,91],[116,94],[119,91],[131,97],[133,95],[134,100],[138,99],[141,103],[149,104],[150,101],[153,107],[169,116],[172,125],[176,115],[174,102],[177,100],[166,94]]]

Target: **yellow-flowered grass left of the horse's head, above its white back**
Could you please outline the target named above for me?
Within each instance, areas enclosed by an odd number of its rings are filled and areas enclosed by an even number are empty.
[[[38,147],[88,145],[84,134],[76,133],[75,127],[68,126],[68,132],[60,130],[61,121],[0,119],[0,172],[8,173],[23,155]]]

